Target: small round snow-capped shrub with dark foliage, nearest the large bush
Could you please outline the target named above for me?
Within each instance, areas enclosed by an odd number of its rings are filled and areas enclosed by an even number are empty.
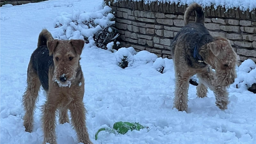
[[[116,61],[119,63],[119,66],[121,68],[126,68],[128,66],[131,66],[133,62],[133,56],[127,48],[122,47],[114,54],[115,54]]]

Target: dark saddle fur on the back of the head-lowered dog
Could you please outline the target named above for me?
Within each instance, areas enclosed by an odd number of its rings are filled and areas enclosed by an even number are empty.
[[[185,59],[189,66],[200,68],[207,66],[199,55],[198,49],[213,41],[209,31],[201,23],[191,23],[184,26],[173,39],[171,44],[172,54],[174,54],[177,42],[185,45]]]

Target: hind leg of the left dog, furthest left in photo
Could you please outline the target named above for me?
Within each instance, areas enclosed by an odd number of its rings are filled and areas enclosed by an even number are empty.
[[[34,121],[34,109],[35,109],[35,102],[38,97],[38,92],[41,86],[38,74],[32,68],[32,62],[29,62],[28,66],[28,78],[27,78],[26,91],[23,95],[23,106],[25,109],[24,115],[24,122],[23,125],[25,126],[25,131],[31,132],[33,127]]]

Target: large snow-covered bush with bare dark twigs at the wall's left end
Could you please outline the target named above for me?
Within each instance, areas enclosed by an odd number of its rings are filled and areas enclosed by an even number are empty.
[[[57,29],[53,36],[62,40],[83,39],[86,43],[92,37],[94,44],[105,50],[108,49],[106,45],[113,41],[113,46],[118,49],[116,38],[119,34],[114,28],[115,17],[110,13],[111,10],[109,6],[105,6],[102,10],[95,12],[80,10],[73,10],[72,14],[62,12],[54,21]],[[110,51],[114,48],[113,46]]]

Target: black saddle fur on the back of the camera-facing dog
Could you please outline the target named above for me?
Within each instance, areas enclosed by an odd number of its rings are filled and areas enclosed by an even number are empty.
[[[46,45],[38,47],[31,56],[34,70],[37,72],[42,87],[48,91],[48,73],[49,67],[54,66],[53,56],[49,56],[49,50]]]

